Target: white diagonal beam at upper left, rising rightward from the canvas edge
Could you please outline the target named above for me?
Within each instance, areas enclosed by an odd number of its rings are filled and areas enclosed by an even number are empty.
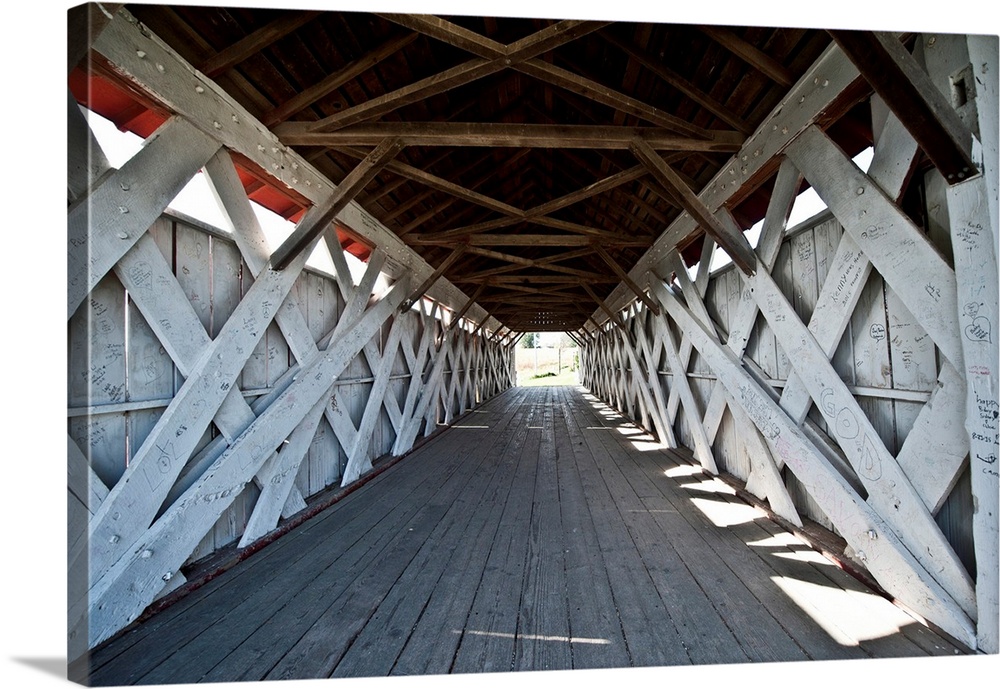
[[[173,117],[120,170],[70,208],[67,317],[218,146],[186,120]]]

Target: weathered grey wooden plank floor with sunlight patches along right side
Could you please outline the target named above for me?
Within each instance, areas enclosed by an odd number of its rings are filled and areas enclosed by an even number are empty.
[[[961,653],[582,389],[542,387],[97,649],[90,683]]]

